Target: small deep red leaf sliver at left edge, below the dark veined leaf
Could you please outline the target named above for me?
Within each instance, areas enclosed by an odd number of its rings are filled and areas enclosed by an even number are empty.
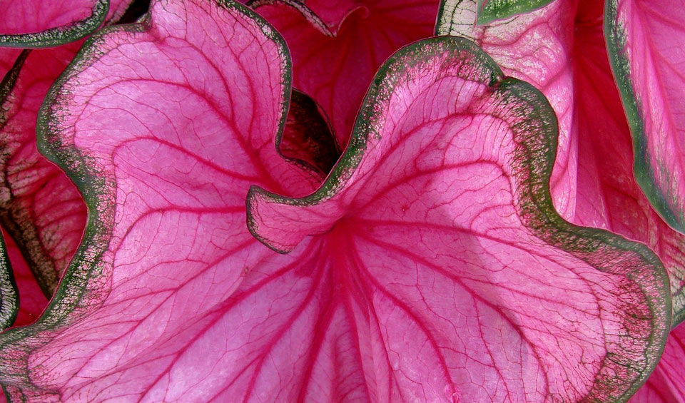
[[[29,265],[26,264],[26,260],[24,260],[21,250],[16,246],[14,240],[4,231],[2,235],[5,239],[7,255],[14,272],[16,287],[19,289],[19,312],[16,320],[11,325],[29,325],[29,323],[33,323],[41,315],[41,312],[48,305],[48,300],[41,291],[41,287],[36,282],[36,277],[31,273]]]

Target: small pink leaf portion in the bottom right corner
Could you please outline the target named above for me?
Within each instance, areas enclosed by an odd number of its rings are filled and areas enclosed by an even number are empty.
[[[685,326],[671,331],[664,354],[630,403],[685,402]]]

